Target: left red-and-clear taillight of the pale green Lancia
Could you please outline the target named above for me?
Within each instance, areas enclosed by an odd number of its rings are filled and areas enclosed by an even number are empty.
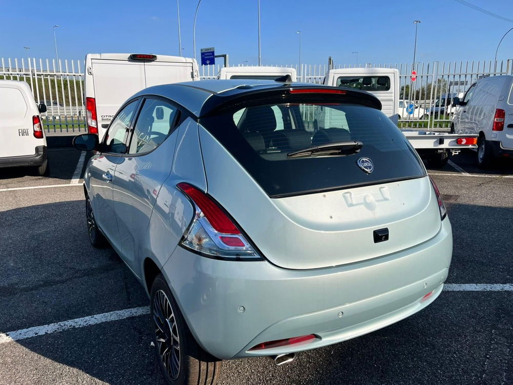
[[[179,183],[176,187],[194,206],[194,216],[180,241],[181,246],[201,255],[223,259],[262,259],[218,203],[188,183]]]

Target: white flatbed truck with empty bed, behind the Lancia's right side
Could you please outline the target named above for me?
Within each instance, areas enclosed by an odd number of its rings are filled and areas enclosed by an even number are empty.
[[[324,84],[355,88],[372,93],[383,106],[382,111],[394,122],[399,120],[399,71],[395,68],[337,68],[330,69]],[[329,127],[329,117],[325,121]],[[319,123],[321,126],[322,123]],[[443,167],[449,155],[463,148],[476,148],[477,136],[424,130],[401,130],[421,158],[432,167]]]

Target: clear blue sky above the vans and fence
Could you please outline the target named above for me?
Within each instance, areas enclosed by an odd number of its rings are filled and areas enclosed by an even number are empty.
[[[513,19],[513,2],[469,0]],[[193,56],[192,21],[197,2],[180,1],[182,47]],[[293,5],[293,8],[290,8]],[[0,57],[54,57],[52,26],[58,24],[61,59],[83,59],[89,52],[178,53],[176,0],[41,2],[23,6],[5,2],[0,12]],[[465,7],[453,0],[335,1],[261,0],[263,64],[297,64],[302,31],[302,61],[324,64],[411,62],[419,19],[417,61],[490,60],[513,23]],[[232,65],[257,64],[257,0],[202,0],[196,48],[228,53]],[[199,59],[199,53],[197,53]],[[513,31],[500,58],[513,57]]]

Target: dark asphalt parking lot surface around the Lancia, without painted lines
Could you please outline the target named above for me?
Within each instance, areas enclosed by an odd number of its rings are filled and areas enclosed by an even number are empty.
[[[513,284],[513,166],[483,171],[475,157],[429,170],[453,228],[447,283],[502,287]],[[149,304],[114,251],[89,244],[74,178],[81,153],[52,149],[49,159],[49,177],[0,169],[0,384],[163,383],[147,314],[2,342],[2,333]],[[512,301],[500,288],[444,291],[420,313],[284,367],[225,361],[220,383],[513,383]]]

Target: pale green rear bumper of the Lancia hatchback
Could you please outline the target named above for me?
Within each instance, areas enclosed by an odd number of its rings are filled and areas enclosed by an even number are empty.
[[[289,270],[263,261],[209,259],[177,247],[163,274],[198,343],[230,359],[319,348],[406,318],[441,293],[451,256],[445,219],[439,234],[421,245],[343,266]],[[249,350],[308,334],[317,338]]]

